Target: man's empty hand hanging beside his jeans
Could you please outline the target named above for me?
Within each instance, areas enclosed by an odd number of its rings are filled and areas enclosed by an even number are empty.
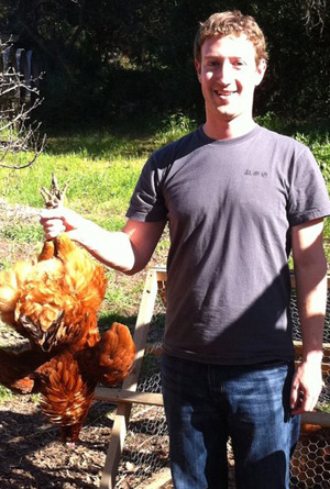
[[[322,390],[321,360],[302,362],[294,376],[290,408],[293,414],[312,411]]]

